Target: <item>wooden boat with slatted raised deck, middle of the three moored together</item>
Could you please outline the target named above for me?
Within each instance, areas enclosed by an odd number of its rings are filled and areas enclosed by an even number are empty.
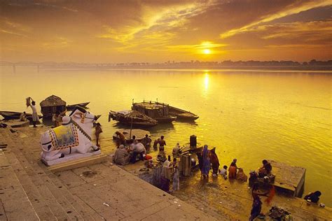
[[[169,105],[153,101],[143,101],[141,103],[133,103],[132,110],[148,115],[157,120],[158,123],[169,123],[177,120],[177,117],[170,115]]]

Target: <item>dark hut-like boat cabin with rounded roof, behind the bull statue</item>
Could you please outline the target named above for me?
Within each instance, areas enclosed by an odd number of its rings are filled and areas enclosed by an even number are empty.
[[[60,97],[52,95],[41,101],[41,113],[44,118],[51,118],[57,111],[63,113],[66,111],[66,101]]]

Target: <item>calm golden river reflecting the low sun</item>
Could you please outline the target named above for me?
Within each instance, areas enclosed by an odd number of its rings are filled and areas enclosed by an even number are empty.
[[[167,147],[199,143],[216,147],[221,165],[237,158],[250,169],[275,159],[307,169],[305,192],[320,190],[332,206],[332,73],[204,70],[0,69],[0,110],[27,110],[25,98],[55,94],[67,104],[90,101],[104,139],[116,131],[109,110],[129,110],[134,101],[160,102],[191,110],[195,123],[173,122],[150,129],[165,135]],[[39,109],[40,110],[40,109]],[[27,110],[31,112],[30,109]]]

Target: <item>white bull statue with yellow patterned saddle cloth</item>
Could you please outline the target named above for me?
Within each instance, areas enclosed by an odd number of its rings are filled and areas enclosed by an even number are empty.
[[[62,117],[60,127],[50,129],[41,135],[41,150],[43,150],[41,160],[51,165],[58,163],[57,159],[65,158],[67,155],[76,155],[73,156],[75,159],[89,152],[96,152],[96,154],[97,151],[100,152],[97,145],[91,142],[95,120],[97,120],[95,115],[76,106],[69,116]]]

